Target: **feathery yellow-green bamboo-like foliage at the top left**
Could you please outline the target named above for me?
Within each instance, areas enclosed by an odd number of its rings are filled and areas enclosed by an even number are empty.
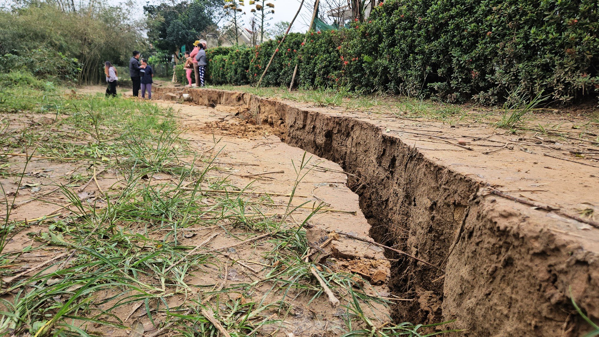
[[[0,10],[0,71],[97,82],[104,61],[126,64],[143,47],[141,33],[120,7],[94,4],[69,11],[48,1]]]

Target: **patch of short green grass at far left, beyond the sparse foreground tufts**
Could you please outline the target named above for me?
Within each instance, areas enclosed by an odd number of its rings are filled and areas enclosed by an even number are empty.
[[[23,87],[5,92],[10,108],[37,113],[38,123],[46,128],[22,128],[11,134],[0,130],[3,144],[14,151],[56,158],[75,158],[111,162],[126,157],[126,163],[165,168],[166,161],[176,161],[186,154],[186,141],[179,138],[174,112],[147,102],[132,99],[106,99],[104,95],[60,95]],[[18,107],[18,108],[14,108]],[[1,109],[1,107],[0,107]],[[51,113],[51,119],[47,114]],[[168,160],[167,160],[168,156]],[[123,162],[120,162],[122,164]]]

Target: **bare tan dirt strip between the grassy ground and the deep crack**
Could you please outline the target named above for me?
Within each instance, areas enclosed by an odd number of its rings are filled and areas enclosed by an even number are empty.
[[[270,195],[270,199],[280,207],[262,208],[260,212],[263,214],[285,214],[286,205],[290,200],[288,195],[294,192],[291,208],[299,205],[304,208],[298,208],[291,214],[292,223],[301,224],[310,216],[313,211],[311,208],[320,205],[323,210],[331,211],[311,216],[310,225],[368,237],[370,224],[359,209],[358,196],[347,187],[347,175],[336,163],[285,144],[273,134],[270,127],[247,123],[247,120],[235,116],[238,115],[235,107],[217,105],[215,108],[207,108],[159,100],[155,103],[176,111],[184,129],[181,136],[189,139],[192,152],[215,158],[213,164],[216,170],[211,172],[212,177],[226,178],[231,186],[238,189],[273,194]],[[302,165],[305,166],[303,170],[300,167]],[[308,172],[307,169],[311,170]],[[298,180],[299,183],[295,187]],[[196,242],[204,237],[205,235],[199,236]],[[341,254],[341,261],[336,268],[358,272],[372,281],[374,287],[365,287],[365,291],[370,295],[390,296],[386,287],[389,262],[383,257],[382,248],[349,238],[338,240],[343,247],[337,245],[334,248],[341,250],[337,253]],[[237,238],[219,236],[214,239],[212,247],[218,249],[237,242]],[[267,249],[268,245],[257,245],[252,250],[235,249],[229,254],[229,258],[260,270],[264,268],[256,262],[263,260],[262,254]],[[235,264],[230,266],[229,270],[232,270],[231,268],[235,268]],[[240,272],[239,269],[237,271]],[[210,284],[217,280],[207,276],[203,277],[202,281]],[[267,289],[256,290],[252,297],[264,296],[266,292]],[[380,295],[381,293],[383,295]],[[276,302],[274,299],[270,300]],[[322,295],[316,299],[298,296],[291,303],[295,308],[291,310],[291,315],[285,317],[284,329],[277,335],[338,335],[343,330],[342,321],[346,311],[343,308],[331,308],[326,296]],[[386,306],[375,305],[374,308],[376,311],[372,317],[378,324],[389,319]],[[261,331],[261,334],[275,332],[280,326],[271,326],[269,329]]]

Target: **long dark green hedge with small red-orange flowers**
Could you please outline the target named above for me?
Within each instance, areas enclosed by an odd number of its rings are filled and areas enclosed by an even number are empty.
[[[288,35],[262,85],[289,86],[299,60],[299,87],[485,104],[599,91],[597,0],[388,0],[367,22],[308,34]],[[277,44],[209,49],[209,80],[255,83]]]

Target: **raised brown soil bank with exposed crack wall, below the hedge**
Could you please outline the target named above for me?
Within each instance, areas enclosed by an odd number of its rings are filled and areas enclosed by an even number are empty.
[[[562,160],[551,152],[555,142],[531,138],[493,151],[512,139],[491,128],[384,120],[213,89],[164,87],[155,95],[182,92],[195,104],[237,106],[288,144],[338,163],[371,236],[437,266],[388,256],[397,259],[395,294],[415,299],[393,308],[395,319],[455,319],[467,336],[578,336],[589,326],[570,295],[599,318],[599,229],[564,216],[597,204],[596,163]]]

